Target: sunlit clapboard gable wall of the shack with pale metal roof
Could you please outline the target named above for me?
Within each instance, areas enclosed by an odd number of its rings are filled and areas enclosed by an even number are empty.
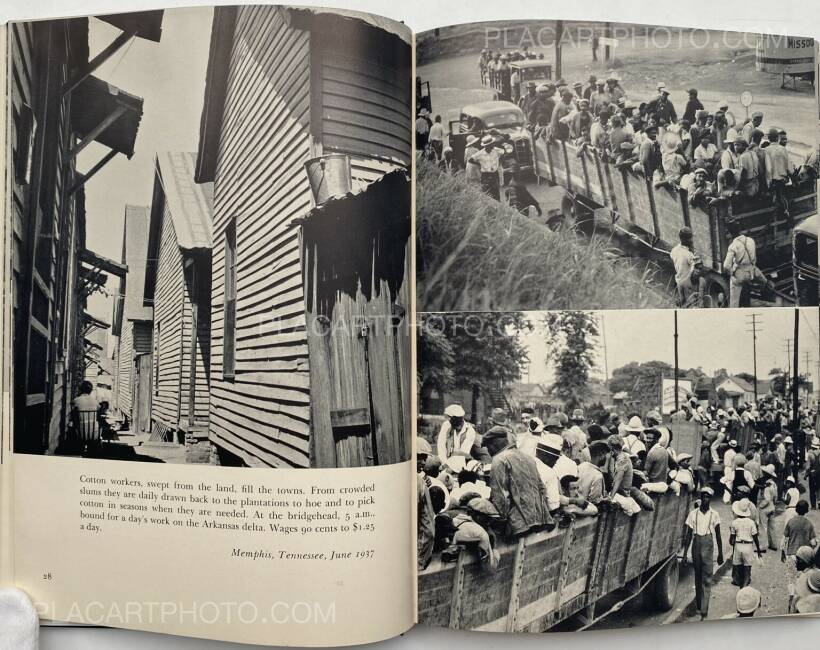
[[[183,350],[186,347],[183,312],[189,309],[183,279],[182,253],[177,245],[168,204],[164,202],[154,289],[153,336],[159,337],[158,352],[152,360],[153,376],[157,378],[151,404],[154,433],[177,429],[180,420],[187,417],[188,401],[182,395],[183,374],[188,374],[183,359],[186,354]]]

